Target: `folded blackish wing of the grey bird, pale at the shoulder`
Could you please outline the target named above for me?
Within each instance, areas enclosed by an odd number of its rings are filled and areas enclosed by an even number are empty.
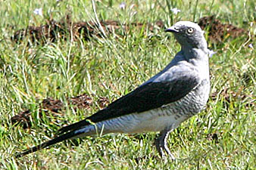
[[[101,122],[130,113],[142,113],[179,100],[201,82],[196,70],[191,68],[183,68],[182,70],[175,73],[172,70],[169,72],[167,70],[158,79],[139,86],[139,88],[109,104],[105,109],[99,110],[80,122],[61,128],[59,134],[82,128],[92,122]],[[168,76],[171,76],[171,79]]]

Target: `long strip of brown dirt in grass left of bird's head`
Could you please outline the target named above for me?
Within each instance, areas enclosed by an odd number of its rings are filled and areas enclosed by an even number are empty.
[[[20,29],[14,32],[11,36],[11,40],[14,42],[20,42],[25,37],[29,37],[31,42],[46,43],[55,42],[56,39],[84,39],[89,40],[93,36],[103,37],[110,34],[116,34],[122,36],[122,34],[129,32],[133,27],[142,29],[147,28],[149,31],[153,31],[155,28],[163,28],[164,23],[161,20],[155,23],[125,23],[122,24],[116,20],[102,20],[100,23],[93,21],[88,22],[76,22],[71,20],[70,15],[67,15],[60,21],[46,20],[46,24],[42,26],[28,26],[27,29]],[[145,29],[146,30],[146,29]]]

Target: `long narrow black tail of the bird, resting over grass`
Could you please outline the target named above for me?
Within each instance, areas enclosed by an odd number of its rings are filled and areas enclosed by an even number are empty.
[[[23,150],[22,153],[17,153],[17,155],[15,155],[15,157],[20,158],[21,156],[25,156],[29,153],[34,153],[37,150],[42,150],[43,148],[52,146],[53,144],[58,144],[61,141],[65,141],[65,140],[70,139],[70,138],[76,138],[80,134],[83,134],[83,131],[70,131],[66,134],[61,134],[60,136],[58,136],[56,138],[53,138],[52,140],[46,141],[42,144],[39,144],[36,147],[31,147],[28,150]]]

